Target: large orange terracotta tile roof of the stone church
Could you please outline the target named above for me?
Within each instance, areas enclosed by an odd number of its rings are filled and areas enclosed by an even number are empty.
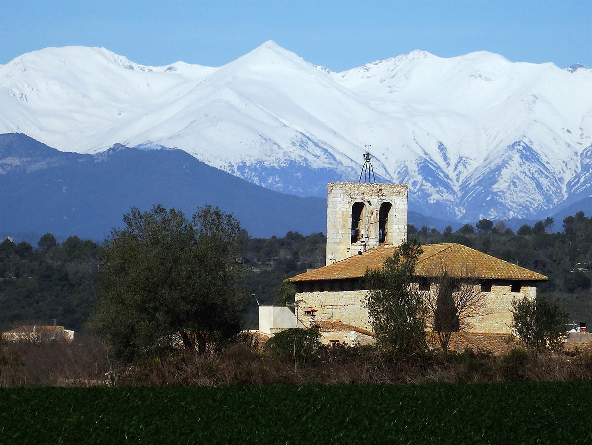
[[[416,266],[416,274],[420,277],[441,275],[445,270],[456,277],[500,278],[505,280],[543,281],[547,277],[511,264],[483,252],[476,251],[461,244],[427,244],[422,246]],[[310,272],[290,278],[290,281],[338,280],[341,278],[362,277],[367,269],[382,268],[382,262],[390,257],[395,246],[381,246],[354,255],[342,261],[320,267]]]

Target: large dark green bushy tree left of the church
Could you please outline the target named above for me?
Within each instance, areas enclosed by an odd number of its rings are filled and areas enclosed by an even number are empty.
[[[91,325],[115,357],[217,348],[242,327],[249,293],[237,286],[239,222],[210,206],[189,222],[160,205],[131,209],[101,251]]]

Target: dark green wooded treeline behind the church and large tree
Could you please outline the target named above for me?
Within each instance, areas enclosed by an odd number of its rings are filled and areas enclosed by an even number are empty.
[[[551,294],[574,321],[592,321],[592,218],[583,212],[564,219],[562,232],[551,219],[524,225],[514,233],[503,223],[482,219],[443,233],[423,226],[408,226],[409,236],[422,244],[456,242],[545,274],[539,293]],[[325,236],[288,232],[277,238],[246,238],[239,261],[244,264],[244,286],[253,295],[246,327],[256,327],[257,302],[273,304],[282,278],[324,265]],[[7,238],[0,244],[2,330],[16,323],[57,324],[79,331],[96,301],[93,278],[101,246],[78,236],[63,243],[50,233],[33,248]]]

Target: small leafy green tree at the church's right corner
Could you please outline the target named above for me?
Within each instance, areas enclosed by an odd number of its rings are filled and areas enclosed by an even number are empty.
[[[561,347],[567,337],[567,321],[567,312],[545,294],[534,300],[512,299],[510,328],[536,353]]]

